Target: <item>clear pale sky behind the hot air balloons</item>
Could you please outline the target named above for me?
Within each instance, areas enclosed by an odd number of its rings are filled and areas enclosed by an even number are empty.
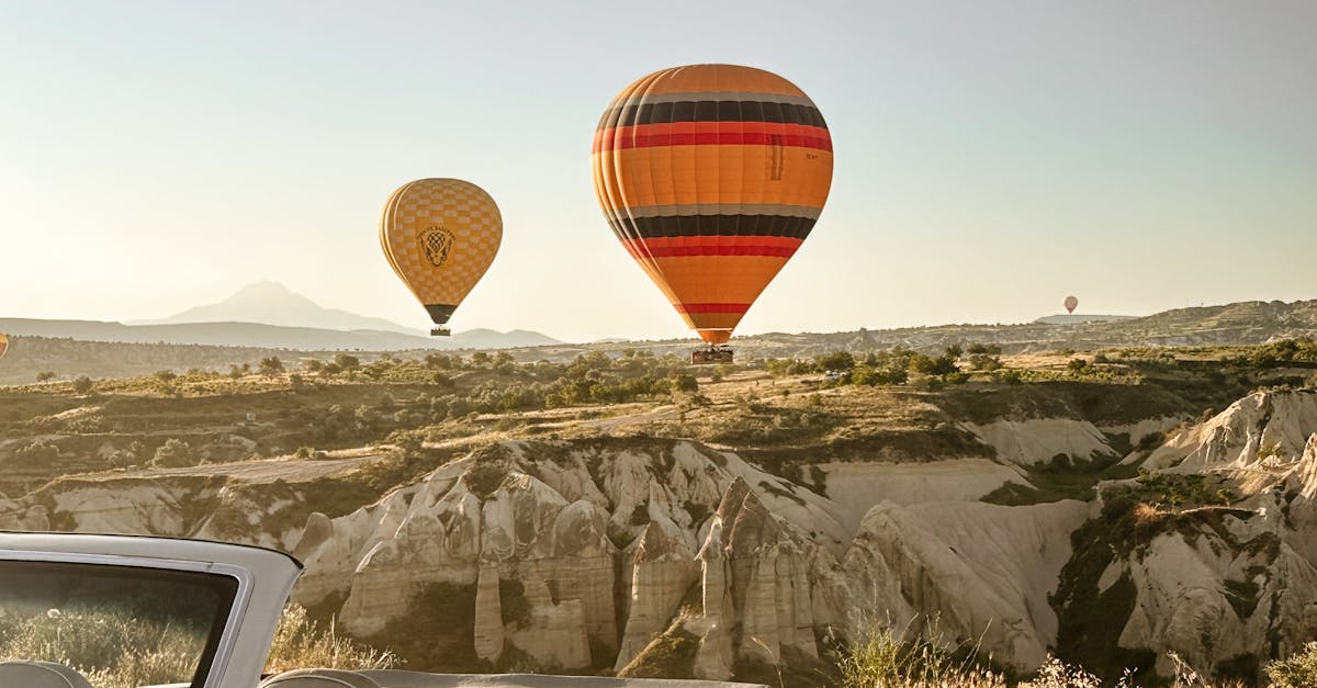
[[[623,86],[698,62],[795,82],[836,149],[738,333],[1317,298],[1313,36],[1306,0],[0,0],[0,318],[277,279],[427,327],[378,214],[461,177],[504,237],[454,330],[686,336],[589,154]]]

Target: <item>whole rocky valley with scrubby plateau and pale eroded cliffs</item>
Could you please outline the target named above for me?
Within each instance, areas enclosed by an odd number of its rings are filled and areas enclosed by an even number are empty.
[[[295,602],[423,670],[826,685],[888,627],[1255,681],[1317,638],[1310,341],[947,357],[3,387],[0,529],[282,548]]]

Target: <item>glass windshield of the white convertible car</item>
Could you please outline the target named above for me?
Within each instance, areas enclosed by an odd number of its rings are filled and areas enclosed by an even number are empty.
[[[200,688],[236,594],[215,573],[0,560],[0,662],[54,662],[95,688]]]

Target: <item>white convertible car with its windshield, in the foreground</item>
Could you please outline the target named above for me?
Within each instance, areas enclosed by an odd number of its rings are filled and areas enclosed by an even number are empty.
[[[0,532],[0,688],[747,685],[315,668],[262,680],[270,642],[300,572],[294,558],[259,547]]]

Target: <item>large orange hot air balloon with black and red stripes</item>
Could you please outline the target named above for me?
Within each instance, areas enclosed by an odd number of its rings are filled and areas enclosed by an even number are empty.
[[[753,67],[694,65],[622,90],[591,150],[599,206],[632,258],[709,349],[728,341],[795,253],[832,183],[814,103]]]

